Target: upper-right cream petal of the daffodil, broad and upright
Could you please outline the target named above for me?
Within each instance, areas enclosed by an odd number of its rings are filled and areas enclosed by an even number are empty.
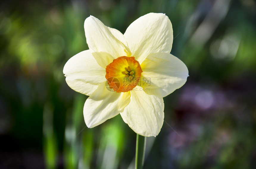
[[[149,13],[135,20],[124,33],[125,40],[140,63],[149,53],[171,52],[171,21],[162,13]]]

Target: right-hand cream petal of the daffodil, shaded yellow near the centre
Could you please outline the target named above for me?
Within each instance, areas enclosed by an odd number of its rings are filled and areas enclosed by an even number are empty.
[[[149,95],[165,97],[182,87],[187,81],[188,68],[174,55],[152,53],[141,63],[141,81],[150,79],[150,84],[141,83]]]

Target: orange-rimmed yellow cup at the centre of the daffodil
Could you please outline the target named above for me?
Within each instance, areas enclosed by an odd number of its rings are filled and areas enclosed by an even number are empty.
[[[140,82],[141,73],[141,65],[134,57],[121,56],[107,65],[105,77],[109,87],[120,93],[136,87]],[[119,86],[116,85],[116,81],[119,81]]]

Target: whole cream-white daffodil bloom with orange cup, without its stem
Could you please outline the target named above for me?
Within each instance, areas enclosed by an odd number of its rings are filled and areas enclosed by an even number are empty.
[[[84,119],[95,127],[119,113],[143,136],[156,136],[163,126],[163,97],[185,84],[186,65],[171,55],[173,30],[162,13],[135,20],[126,32],[105,26],[96,17],[85,20],[89,50],[70,58],[64,66],[66,82],[90,96]]]

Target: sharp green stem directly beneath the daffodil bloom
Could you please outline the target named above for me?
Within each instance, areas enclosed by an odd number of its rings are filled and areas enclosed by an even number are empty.
[[[137,134],[135,169],[142,169],[144,164],[146,138]]]

